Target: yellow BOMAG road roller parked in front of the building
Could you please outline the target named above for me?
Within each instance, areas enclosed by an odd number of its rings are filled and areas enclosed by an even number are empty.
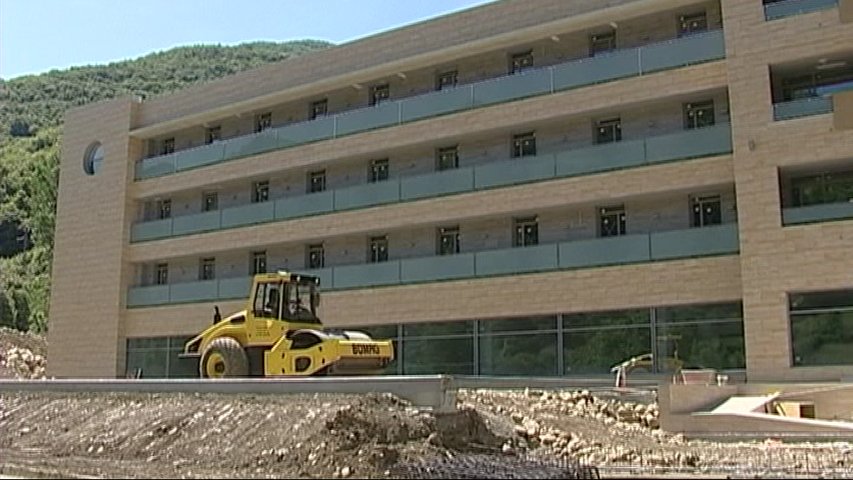
[[[279,271],[255,275],[246,309],[184,345],[202,378],[378,374],[394,359],[390,340],[323,328],[320,279]]]

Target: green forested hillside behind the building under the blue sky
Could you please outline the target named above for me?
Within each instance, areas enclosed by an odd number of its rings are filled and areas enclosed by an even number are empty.
[[[67,108],[128,93],[150,98],[329,46],[305,40],[180,47],[109,65],[0,79],[0,326],[47,328]]]

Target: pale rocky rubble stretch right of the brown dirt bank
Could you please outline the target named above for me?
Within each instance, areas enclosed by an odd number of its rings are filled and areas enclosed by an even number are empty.
[[[571,459],[625,472],[771,472],[783,477],[806,470],[853,475],[853,448],[845,442],[712,442],[686,440],[658,427],[653,398],[623,401],[588,391],[464,391],[463,404],[512,420],[520,452]],[[610,470],[608,470],[608,468]]]

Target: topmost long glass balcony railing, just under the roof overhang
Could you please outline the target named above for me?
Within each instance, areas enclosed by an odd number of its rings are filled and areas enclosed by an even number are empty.
[[[271,150],[724,57],[723,32],[713,30],[145,158],[137,163],[136,179],[169,175]]]

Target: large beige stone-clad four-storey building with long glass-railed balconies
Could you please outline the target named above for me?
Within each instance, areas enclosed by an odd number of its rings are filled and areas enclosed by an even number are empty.
[[[195,375],[283,268],[389,372],[848,377],[851,86],[851,0],[504,0],[76,108],[49,373]]]

